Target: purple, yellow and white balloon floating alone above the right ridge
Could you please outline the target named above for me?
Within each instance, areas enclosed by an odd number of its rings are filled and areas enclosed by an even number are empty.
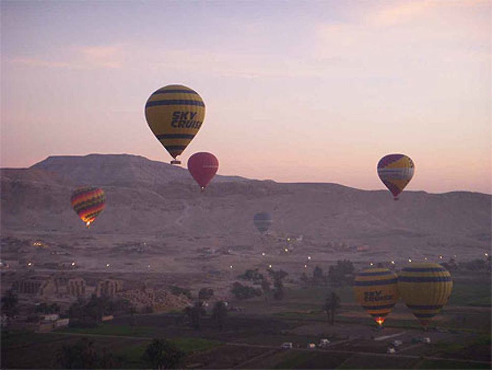
[[[395,201],[412,179],[414,168],[413,161],[404,154],[388,154],[379,160],[377,174]]]

